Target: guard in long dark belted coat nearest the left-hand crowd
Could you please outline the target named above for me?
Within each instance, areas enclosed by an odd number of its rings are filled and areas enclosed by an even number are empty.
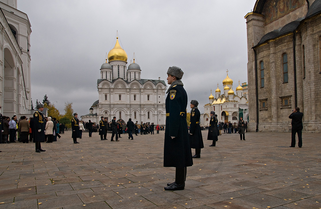
[[[36,152],[45,152],[46,150],[41,149],[41,142],[45,142],[45,126],[44,126],[44,116],[42,114],[43,105],[37,104],[37,111],[33,113],[33,140],[36,145]]]

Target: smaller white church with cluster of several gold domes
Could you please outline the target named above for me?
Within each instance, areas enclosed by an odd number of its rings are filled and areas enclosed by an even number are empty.
[[[238,122],[240,117],[244,121],[248,121],[248,105],[247,105],[247,83],[242,83],[242,86],[236,87],[236,92],[233,91],[233,80],[229,78],[228,71],[226,78],[223,80],[223,93],[219,89],[215,90],[215,97],[211,95],[208,97],[210,102],[204,105],[204,114],[201,118],[203,126],[209,125],[210,112],[214,111],[217,114],[219,122],[231,123]]]

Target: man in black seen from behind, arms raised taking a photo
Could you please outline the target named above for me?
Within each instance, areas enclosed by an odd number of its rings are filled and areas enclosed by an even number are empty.
[[[299,147],[302,147],[302,129],[303,129],[303,123],[302,123],[302,117],[303,113],[300,112],[300,108],[296,107],[294,110],[292,110],[293,113],[289,116],[292,125],[292,134],[291,134],[291,146],[295,147],[295,134],[298,133],[299,138]]]

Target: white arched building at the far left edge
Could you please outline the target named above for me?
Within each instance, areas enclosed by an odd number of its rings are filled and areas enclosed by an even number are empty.
[[[0,0],[0,104],[2,114],[32,114],[30,89],[30,33],[27,14],[17,0]]]

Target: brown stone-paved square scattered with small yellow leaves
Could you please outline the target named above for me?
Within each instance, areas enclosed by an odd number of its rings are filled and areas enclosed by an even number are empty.
[[[0,209],[321,208],[319,133],[303,133],[302,148],[289,147],[291,133],[223,134],[215,147],[204,140],[180,191],[163,189],[175,180],[175,168],[163,167],[164,131],[119,142],[92,136],[73,144],[68,131],[41,153],[34,143],[1,144]]]

